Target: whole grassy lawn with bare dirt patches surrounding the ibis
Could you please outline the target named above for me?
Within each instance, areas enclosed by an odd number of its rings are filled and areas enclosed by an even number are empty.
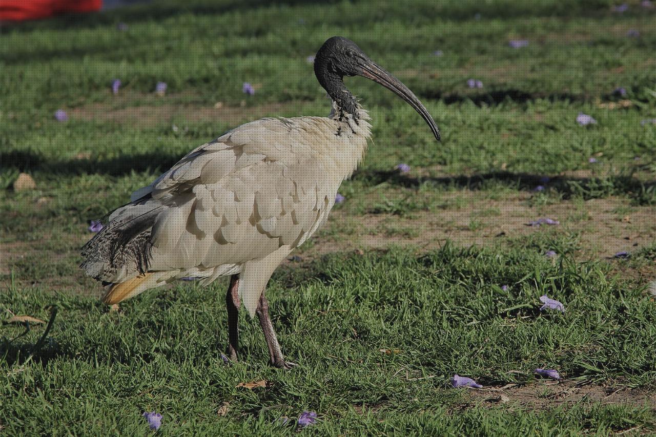
[[[57,312],[47,333],[0,325],[0,434],[144,435],[144,411],[167,435],[656,432],[656,5],[399,3],[161,1],[1,28],[0,320]],[[373,142],[267,291],[298,367],[267,364],[245,312],[224,363],[224,279],[98,301],[77,268],[89,222],[240,123],[327,115],[308,56],[333,35],[442,141],[346,80]]]

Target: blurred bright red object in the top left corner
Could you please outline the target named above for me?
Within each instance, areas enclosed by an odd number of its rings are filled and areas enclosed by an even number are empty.
[[[66,12],[93,12],[102,0],[0,0],[0,21],[47,18]]]

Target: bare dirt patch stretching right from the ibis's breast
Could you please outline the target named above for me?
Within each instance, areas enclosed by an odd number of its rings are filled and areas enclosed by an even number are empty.
[[[392,243],[415,245],[426,250],[436,249],[447,239],[459,245],[490,245],[504,239],[543,232],[555,228],[563,232],[579,232],[579,257],[613,257],[616,253],[631,252],[656,241],[656,208],[630,207],[626,199],[592,199],[582,203],[562,201],[554,205],[531,207],[530,194],[491,200],[478,193],[449,194],[443,199],[460,198],[459,207],[436,213],[419,212],[411,217],[365,214],[356,217],[354,234],[344,236],[316,236],[309,249],[302,249],[304,257],[313,257],[340,250],[382,248]],[[447,202],[448,203],[448,202]],[[344,228],[352,218],[345,211],[333,211],[328,229]],[[560,221],[557,226],[527,226],[538,218]],[[392,234],[382,233],[381,224],[394,223]],[[384,226],[383,226],[384,227]],[[394,229],[401,230],[400,235]],[[403,229],[416,230],[416,236],[403,235]]]

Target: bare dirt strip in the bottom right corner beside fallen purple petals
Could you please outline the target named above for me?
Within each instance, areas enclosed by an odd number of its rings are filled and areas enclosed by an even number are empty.
[[[482,404],[506,404],[529,409],[553,409],[562,404],[581,401],[600,402],[604,405],[649,405],[656,408],[656,393],[643,388],[625,386],[586,385],[576,381],[544,381],[531,385],[509,384],[469,390],[472,400]]]

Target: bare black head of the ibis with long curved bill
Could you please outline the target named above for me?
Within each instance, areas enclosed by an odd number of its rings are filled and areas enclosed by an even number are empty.
[[[440,140],[440,131],[419,98],[399,79],[369,59],[369,56],[350,39],[337,36],[327,39],[314,58],[314,74],[338,106],[348,114],[352,114],[356,120],[358,119],[356,100],[344,87],[344,76],[362,76],[379,83],[415,108],[428,123],[435,138]]]

